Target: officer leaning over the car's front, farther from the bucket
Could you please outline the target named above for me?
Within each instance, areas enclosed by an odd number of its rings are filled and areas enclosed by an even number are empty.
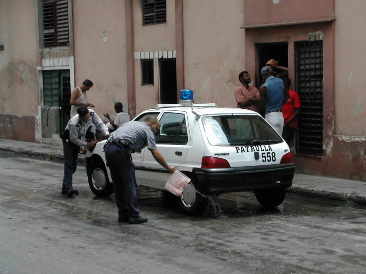
[[[61,194],[67,194],[69,198],[79,194],[79,191],[72,186],[72,175],[76,171],[80,146],[93,147],[97,143],[97,141],[85,141],[87,132],[95,134],[98,128],[106,137],[110,136],[108,128],[94,110],[81,106],[77,109],[77,113],[67,123],[64,133],[60,134],[65,159]]]

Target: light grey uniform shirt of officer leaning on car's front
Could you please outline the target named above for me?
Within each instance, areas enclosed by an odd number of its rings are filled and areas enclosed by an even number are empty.
[[[88,110],[90,114],[90,120],[88,122],[83,122],[79,114],[76,114],[66,125],[66,129],[70,131],[70,141],[79,146],[86,146],[85,134],[90,126],[92,126],[91,132],[93,133],[98,128],[105,136],[109,134],[108,128],[97,113],[93,109]]]

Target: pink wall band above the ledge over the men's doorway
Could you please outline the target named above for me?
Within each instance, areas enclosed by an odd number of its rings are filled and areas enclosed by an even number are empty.
[[[245,25],[289,23],[334,16],[334,0],[245,0],[244,2]]]

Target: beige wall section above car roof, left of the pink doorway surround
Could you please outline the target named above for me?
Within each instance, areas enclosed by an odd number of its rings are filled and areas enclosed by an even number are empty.
[[[184,0],[183,14],[185,88],[195,91],[197,103],[236,107],[245,69],[244,1]]]

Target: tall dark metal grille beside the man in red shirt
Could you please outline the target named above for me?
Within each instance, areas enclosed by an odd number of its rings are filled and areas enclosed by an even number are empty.
[[[295,44],[296,89],[301,100],[296,152],[323,156],[323,43]]]

